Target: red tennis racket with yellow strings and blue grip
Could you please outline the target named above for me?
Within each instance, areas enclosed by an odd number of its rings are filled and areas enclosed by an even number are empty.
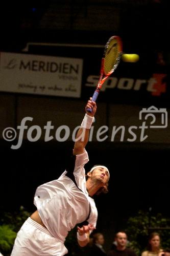
[[[104,55],[102,58],[101,75],[98,81],[98,86],[92,96],[92,100],[96,101],[103,83],[117,68],[122,56],[122,40],[119,36],[112,36],[105,45]],[[87,109],[91,113],[92,109]]]

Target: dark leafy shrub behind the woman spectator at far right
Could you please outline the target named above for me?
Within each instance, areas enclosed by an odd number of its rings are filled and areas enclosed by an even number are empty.
[[[139,210],[137,215],[127,221],[126,232],[130,241],[130,247],[140,255],[147,248],[150,232],[157,231],[161,237],[161,246],[170,247],[170,219],[161,214],[150,216],[149,212]],[[152,229],[151,229],[152,227]]]

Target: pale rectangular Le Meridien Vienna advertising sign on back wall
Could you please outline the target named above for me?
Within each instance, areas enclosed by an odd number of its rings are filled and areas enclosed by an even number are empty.
[[[0,91],[80,98],[83,60],[1,52]]]

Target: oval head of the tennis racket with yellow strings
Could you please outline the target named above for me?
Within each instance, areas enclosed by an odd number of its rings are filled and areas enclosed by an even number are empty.
[[[117,68],[122,57],[122,40],[119,36],[111,36],[107,41],[103,55],[103,72],[109,76]]]

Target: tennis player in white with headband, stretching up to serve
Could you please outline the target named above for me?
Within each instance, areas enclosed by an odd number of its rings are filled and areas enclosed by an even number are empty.
[[[91,113],[87,108],[92,109]],[[85,146],[96,112],[96,103],[88,100],[86,114],[76,136],[72,160],[59,179],[40,185],[36,189],[34,204],[37,210],[23,223],[17,233],[11,256],[62,256],[68,231],[79,223],[77,239],[84,247],[89,234],[96,227],[98,211],[93,196],[107,191],[109,170],[103,165],[91,168],[85,175],[88,162]]]

